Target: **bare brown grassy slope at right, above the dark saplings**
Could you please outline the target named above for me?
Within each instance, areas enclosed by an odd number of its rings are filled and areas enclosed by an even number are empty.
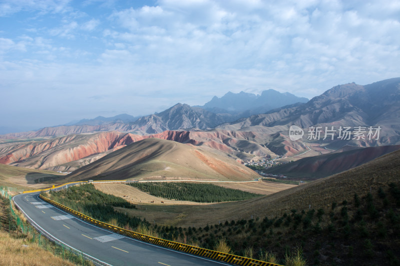
[[[330,208],[332,202],[351,200],[354,194],[375,193],[379,187],[385,188],[390,182],[400,179],[400,150],[381,156],[373,161],[346,172],[321,178],[304,185],[286,189],[261,198],[235,203],[219,203],[209,206],[180,206],[179,210],[163,206],[152,213],[136,213],[140,217],[148,215],[162,218],[164,212],[175,211],[185,216],[175,221],[175,226],[203,226],[218,221],[250,219],[265,216],[280,217],[290,210]],[[159,212],[159,213],[157,213]],[[162,212],[162,213],[161,213]],[[204,216],[204,213],[207,215]],[[157,219],[155,219],[157,222]]]

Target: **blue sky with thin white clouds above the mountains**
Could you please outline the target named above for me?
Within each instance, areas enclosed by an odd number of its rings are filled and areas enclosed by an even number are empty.
[[[0,0],[0,133],[228,91],[312,98],[399,62],[400,0]]]

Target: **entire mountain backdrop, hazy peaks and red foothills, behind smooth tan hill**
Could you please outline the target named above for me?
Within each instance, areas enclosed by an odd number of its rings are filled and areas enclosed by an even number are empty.
[[[276,100],[280,104],[296,102],[264,114],[232,121],[237,114],[242,114],[241,110],[251,104],[256,107],[256,102],[264,101],[263,97],[270,93],[287,100]],[[242,103],[238,100],[240,97],[243,98]],[[73,171],[147,138],[193,145],[217,156],[233,159],[265,155],[293,156],[306,152],[309,153],[305,156],[310,156],[321,154],[314,149],[320,145],[319,150],[329,152],[346,145],[369,147],[400,144],[400,78],[365,86],[355,83],[338,85],[306,103],[299,103],[298,100],[293,95],[271,90],[259,96],[243,92],[227,93],[221,98],[214,97],[203,107],[178,103],[163,112],[140,117],[134,122],[126,122],[135,119],[129,115],[97,117],[70,126],[1,135],[0,162],[33,169]],[[220,111],[224,113],[204,109],[213,109],[218,104],[223,107]],[[236,109],[227,110],[230,106],[236,106]],[[266,103],[264,107],[273,106]],[[288,129],[291,125],[305,130],[302,139],[290,140]],[[376,139],[356,139],[351,135],[351,138],[344,140],[338,138],[336,131],[333,140],[308,140],[307,129],[311,126],[321,127],[322,136],[325,126],[333,126],[336,130],[340,126],[352,129],[357,126],[379,126],[380,132]]]

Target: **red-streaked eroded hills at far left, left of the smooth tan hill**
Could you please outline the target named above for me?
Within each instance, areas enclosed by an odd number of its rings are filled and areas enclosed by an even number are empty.
[[[101,158],[106,151],[122,148],[143,136],[116,131],[90,135],[68,135],[41,141],[12,142],[0,144],[0,163],[34,169],[54,167],[88,158],[83,164]]]

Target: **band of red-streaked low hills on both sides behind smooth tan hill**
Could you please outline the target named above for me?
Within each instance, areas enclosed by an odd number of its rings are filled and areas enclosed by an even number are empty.
[[[73,171],[112,151],[146,138],[191,144],[202,147],[209,152],[223,156],[230,155],[233,158],[275,155],[263,144],[272,140],[276,141],[274,140],[275,137],[257,132],[164,131],[158,134],[140,136],[110,131],[95,134],[72,134],[38,141],[2,143],[0,144],[0,163],[33,169]],[[284,138],[281,137],[281,140],[284,141]],[[277,140],[278,142],[279,140]],[[279,150],[279,147],[273,147],[271,144],[269,144],[269,147]],[[292,149],[293,153],[296,153],[304,150],[305,146],[299,145]]]

